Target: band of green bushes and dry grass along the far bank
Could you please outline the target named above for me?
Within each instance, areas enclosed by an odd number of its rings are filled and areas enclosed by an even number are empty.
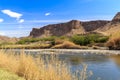
[[[88,47],[102,45],[109,40],[108,36],[100,34],[86,34],[67,36],[50,36],[45,38],[21,38],[16,43],[4,42],[0,44],[0,48],[5,49],[44,49],[44,48],[57,48],[57,49],[88,49]],[[99,44],[99,45],[96,45]]]

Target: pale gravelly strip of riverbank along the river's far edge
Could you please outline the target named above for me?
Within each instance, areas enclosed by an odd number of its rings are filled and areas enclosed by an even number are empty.
[[[104,54],[120,55],[120,50],[85,50],[85,49],[7,49],[8,51],[25,52],[31,54]]]

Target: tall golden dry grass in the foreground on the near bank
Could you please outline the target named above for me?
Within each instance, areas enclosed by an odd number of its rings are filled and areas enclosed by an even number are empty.
[[[80,74],[73,75],[65,62],[55,56],[43,59],[33,58],[21,52],[20,55],[0,51],[0,68],[17,74],[26,80],[86,80],[87,67]]]

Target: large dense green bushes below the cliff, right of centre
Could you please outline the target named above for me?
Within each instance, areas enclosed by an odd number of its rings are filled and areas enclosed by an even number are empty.
[[[88,45],[91,43],[105,43],[109,37],[101,36],[99,34],[88,34],[88,35],[74,35],[70,38],[72,42],[79,45]]]

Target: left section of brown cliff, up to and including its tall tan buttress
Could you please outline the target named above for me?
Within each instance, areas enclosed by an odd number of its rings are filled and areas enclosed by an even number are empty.
[[[63,36],[73,34],[83,34],[85,31],[81,26],[80,21],[72,20],[67,23],[47,25],[40,29],[33,28],[30,36],[32,37],[47,37],[47,36]]]

